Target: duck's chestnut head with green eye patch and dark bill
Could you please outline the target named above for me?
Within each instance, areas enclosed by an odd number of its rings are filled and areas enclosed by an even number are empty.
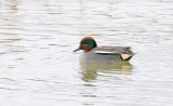
[[[89,52],[90,50],[96,48],[96,41],[94,40],[94,38],[92,37],[84,37],[81,41],[80,41],[80,45],[78,49],[74,50],[74,52],[77,52],[79,50],[84,50],[84,52]]]

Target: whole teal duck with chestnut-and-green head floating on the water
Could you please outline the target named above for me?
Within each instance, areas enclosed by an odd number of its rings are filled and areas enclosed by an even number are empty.
[[[84,50],[80,59],[84,63],[115,63],[130,61],[134,53],[130,47],[97,47],[92,37],[84,37],[74,52]]]

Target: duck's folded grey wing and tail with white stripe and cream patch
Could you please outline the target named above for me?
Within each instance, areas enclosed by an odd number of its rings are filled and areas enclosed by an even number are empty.
[[[129,61],[134,55],[130,47],[98,47],[95,49],[95,53],[101,55],[120,55],[123,61]]]

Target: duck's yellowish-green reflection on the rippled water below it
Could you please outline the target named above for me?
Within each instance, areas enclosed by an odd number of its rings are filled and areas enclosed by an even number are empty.
[[[129,62],[117,63],[80,63],[82,80],[91,81],[96,79],[98,72],[114,72],[114,74],[131,74],[133,66]]]

